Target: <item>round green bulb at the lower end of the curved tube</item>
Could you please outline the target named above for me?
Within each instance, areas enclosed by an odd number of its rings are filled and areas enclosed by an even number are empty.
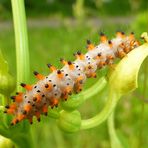
[[[72,112],[67,112],[63,110],[60,112],[58,125],[65,132],[77,132],[79,131],[81,126],[81,115],[77,110]]]

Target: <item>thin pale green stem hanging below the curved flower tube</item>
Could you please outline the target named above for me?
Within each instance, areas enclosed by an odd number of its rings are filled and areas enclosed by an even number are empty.
[[[116,135],[115,125],[114,125],[114,112],[109,116],[107,123],[108,123],[111,148],[123,148]]]

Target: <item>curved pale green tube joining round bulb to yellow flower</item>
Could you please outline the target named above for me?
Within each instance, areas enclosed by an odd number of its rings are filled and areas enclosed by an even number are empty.
[[[120,96],[120,94],[112,93],[112,91],[110,91],[109,98],[103,110],[90,119],[82,120],[81,129],[93,128],[104,122],[113,112],[118,100],[120,99]]]

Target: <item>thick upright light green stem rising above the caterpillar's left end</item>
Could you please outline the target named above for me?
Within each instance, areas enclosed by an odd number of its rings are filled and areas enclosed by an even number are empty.
[[[21,91],[18,84],[23,81],[28,82],[30,74],[25,7],[24,0],[11,0],[11,3],[16,44],[17,91]]]

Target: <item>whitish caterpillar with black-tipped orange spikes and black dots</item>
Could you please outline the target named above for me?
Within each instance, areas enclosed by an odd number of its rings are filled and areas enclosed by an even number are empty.
[[[86,78],[95,78],[97,69],[112,65],[116,58],[123,58],[139,45],[133,32],[126,36],[124,32],[117,31],[116,37],[112,40],[100,33],[99,45],[95,46],[87,40],[88,52],[76,52],[74,62],[61,58],[60,62],[64,64],[62,69],[47,64],[51,70],[49,75],[44,76],[34,71],[38,81],[33,85],[21,83],[26,91],[11,96],[13,102],[6,106],[4,112],[15,116],[11,125],[24,119],[28,119],[32,124],[34,116],[40,121],[41,114],[47,115],[49,106],[57,107],[60,99],[67,100],[72,93],[81,92]]]

